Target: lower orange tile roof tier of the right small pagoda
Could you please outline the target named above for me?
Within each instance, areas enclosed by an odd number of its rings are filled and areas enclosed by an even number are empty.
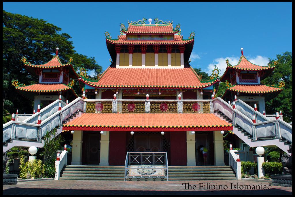
[[[283,88],[270,87],[263,84],[236,84],[232,87],[228,87],[227,89],[235,92],[245,93],[268,93],[283,90]]]

